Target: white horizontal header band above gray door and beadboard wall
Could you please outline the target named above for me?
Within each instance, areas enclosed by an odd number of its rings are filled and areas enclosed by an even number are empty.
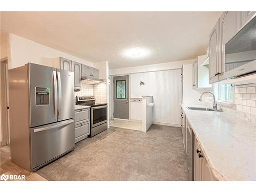
[[[175,62],[164,62],[153,65],[137,66],[130,68],[110,69],[110,75],[123,75],[131,73],[141,73],[150,71],[161,71],[169,69],[181,69],[182,65],[193,63],[195,59],[175,61]]]

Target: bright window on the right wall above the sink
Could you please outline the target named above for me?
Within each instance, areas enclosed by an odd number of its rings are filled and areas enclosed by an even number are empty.
[[[234,88],[231,84],[215,83],[214,92],[217,100],[219,101],[234,101]]]

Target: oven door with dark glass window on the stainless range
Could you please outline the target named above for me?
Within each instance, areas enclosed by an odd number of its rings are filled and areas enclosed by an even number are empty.
[[[103,106],[94,106],[92,107],[92,115],[91,115],[91,124],[92,127],[98,126],[100,124],[103,124],[106,122],[106,116],[107,116],[107,105]]]

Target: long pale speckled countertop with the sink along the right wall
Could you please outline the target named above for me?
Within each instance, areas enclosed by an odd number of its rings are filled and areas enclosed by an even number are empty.
[[[256,123],[236,113],[188,110],[186,118],[212,173],[221,181],[256,180]]]

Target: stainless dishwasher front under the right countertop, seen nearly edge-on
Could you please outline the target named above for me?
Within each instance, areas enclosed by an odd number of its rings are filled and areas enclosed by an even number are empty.
[[[194,147],[195,147],[195,135],[190,125],[187,123],[186,127],[187,137],[187,169],[189,173],[189,181],[194,181]]]

